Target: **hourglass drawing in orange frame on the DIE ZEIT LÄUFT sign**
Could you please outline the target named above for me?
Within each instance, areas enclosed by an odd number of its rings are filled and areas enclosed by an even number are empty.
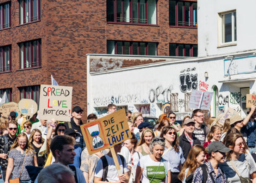
[[[92,151],[93,149],[98,150],[108,145],[106,143],[104,131],[100,121],[94,121],[87,124],[84,126],[84,130],[87,132],[87,140],[91,142],[90,145],[92,145]]]

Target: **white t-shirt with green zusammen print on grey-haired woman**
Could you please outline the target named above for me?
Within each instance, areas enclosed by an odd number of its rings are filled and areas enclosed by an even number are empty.
[[[138,166],[143,168],[142,183],[167,183],[167,172],[171,170],[170,163],[162,158],[161,162],[153,161],[150,155],[142,156]]]

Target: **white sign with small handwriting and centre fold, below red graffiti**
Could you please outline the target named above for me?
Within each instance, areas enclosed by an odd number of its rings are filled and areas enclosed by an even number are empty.
[[[190,96],[188,107],[192,109],[209,110],[213,92],[193,90]]]

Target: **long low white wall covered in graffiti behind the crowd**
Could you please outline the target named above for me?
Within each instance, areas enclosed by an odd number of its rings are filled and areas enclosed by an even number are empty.
[[[88,55],[87,59],[93,56]],[[109,59],[112,57],[109,56]],[[123,56],[123,59],[127,57]],[[88,72],[88,114],[105,113],[106,106],[113,103],[118,108],[140,111],[144,116],[158,117],[171,110],[178,114],[177,119],[182,120],[193,110],[188,108],[191,91],[201,90],[214,92],[210,111],[212,116],[224,112],[228,107],[245,116],[241,107],[246,101],[246,94],[256,91],[254,81],[246,78],[255,77],[255,73],[226,76],[224,60],[225,55],[178,61],[168,61],[167,58],[165,62],[93,74]],[[205,77],[205,73],[208,77]],[[245,88],[245,91],[241,88]]]

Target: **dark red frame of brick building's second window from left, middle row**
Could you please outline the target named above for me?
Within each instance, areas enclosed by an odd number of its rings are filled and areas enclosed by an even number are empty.
[[[32,58],[33,58],[33,46],[32,46],[32,42],[33,41],[38,41],[38,66],[33,66],[33,62],[32,62]],[[30,42],[30,67],[26,67],[26,47],[25,47],[25,43],[29,43]],[[23,44],[23,68],[21,68],[21,44]],[[23,70],[23,69],[33,69],[33,68],[39,68],[42,66],[42,41],[41,39],[35,39],[35,40],[30,40],[30,41],[25,41],[25,42],[20,42],[18,43],[19,45],[19,69],[18,70]]]

